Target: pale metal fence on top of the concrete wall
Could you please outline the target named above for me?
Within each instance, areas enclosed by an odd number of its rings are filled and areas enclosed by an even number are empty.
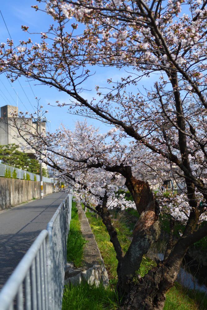
[[[6,169],[7,169],[7,171],[10,170],[11,177],[12,177],[13,171],[16,170],[16,178],[17,179],[26,179],[26,175],[28,174],[31,181],[35,180],[35,176],[36,176],[36,181],[40,181],[40,176],[35,174],[35,173],[28,172],[26,170],[22,170],[22,169],[15,168],[12,166],[4,165],[1,163],[0,163],[0,176],[5,176]],[[43,182],[53,183],[53,179],[43,176]]]

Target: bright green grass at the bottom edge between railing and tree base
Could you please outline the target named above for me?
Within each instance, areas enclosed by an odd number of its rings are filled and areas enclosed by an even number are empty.
[[[117,305],[116,293],[110,287],[97,287],[87,282],[65,286],[62,310],[115,310]]]

